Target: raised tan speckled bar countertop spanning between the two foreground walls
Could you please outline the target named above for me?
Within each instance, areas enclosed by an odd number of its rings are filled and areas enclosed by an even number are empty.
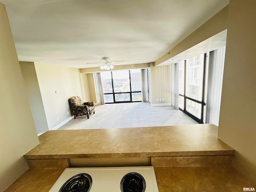
[[[88,157],[154,157],[234,154],[217,138],[212,124],[52,130],[39,136],[40,144],[26,159]]]

